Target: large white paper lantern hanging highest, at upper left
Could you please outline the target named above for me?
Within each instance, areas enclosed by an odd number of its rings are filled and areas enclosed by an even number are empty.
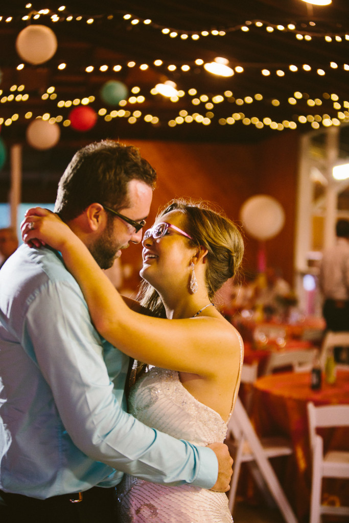
[[[57,38],[47,26],[32,25],[22,29],[16,39],[16,51],[30,64],[42,64],[57,50]]]

